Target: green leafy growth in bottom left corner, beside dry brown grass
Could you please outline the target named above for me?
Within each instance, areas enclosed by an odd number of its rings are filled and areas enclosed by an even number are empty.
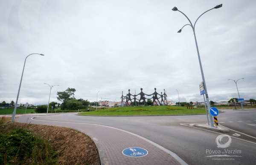
[[[32,131],[24,128],[0,130],[0,162],[5,165],[56,164],[58,155],[49,146],[48,141],[37,137]],[[6,127],[5,127],[6,128]],[[1,164],[2,164],[1,163]]]

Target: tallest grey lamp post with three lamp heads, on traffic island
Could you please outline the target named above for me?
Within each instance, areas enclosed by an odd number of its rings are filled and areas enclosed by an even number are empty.
[[[212,9],[218,9],[218,8],[221,8],[221,7],[222,7],[222,4],[217,5],[217,6],[215,6],[215,7],[212,8]],[[207,10],[207,11],[210,11],[210,10],[212,10],[212,9],[209,9],[209,10]],[[173,11],[179,11],[179,10],[177,9],[177,7],[174,7],[172,10],[173,10]],[[206,13],[207,11],[205,11],[204,13]],[[181,11],[179,11],[179,12],[182,13],[182,14],[189,20],[189,18],[188,18],[183,12],[181,12]],[[204,13],[203,13],[203,14],[204,14]],[[198,17],[198,19],[199,19],[203,14],[201,14],[201,15]],[[197,20],[198,20],[198,19],[197,19]],[[195,21],[195,23],[197,22],[197,20]],[[194,32],[194,37],[195,37],[195,24],[194,24],[194,26],[193,26],[190,20],[189,20],[189,23],[190,23],[190,24],[186,24],[186,25],[184,25],[184,26],[187,26],[187,25],[191,26],[191,28],[192,28],[192,30],[193,30],[193,32]],[[183,26],[183,27],[184,27],[184,26]],[[183,27],[182,27],[182,28],[183,28]],[[181,32],[182,28],[178,31],[178,33]],[[205,83],[205,80],[204,80],[204,72],[203,72],[203,68],[202,68],[202,64],[201,64],[201,59],[200,59],[200,54],[199,54],[199,50],[198,50],[198,44],[197,44],[197,41],[196,41],[196,37],[195,37],[195,46],[196,46],[196,49],[197,49],[199,65],[200,65],[200,69],[201,69],[202,79],[203,79],[203,82],[204,82],[204,90],[205,90],[205,96],[206,96],[206,100],[207,100],[207,106],[208,106],[208,110],[210,111],[210,103],[209,103],[209,98],[208,98],[206,83]],[[209,116],[210,116],[211,126],[214,127],[212,115],[211,115],[210,113],[209,113]]]

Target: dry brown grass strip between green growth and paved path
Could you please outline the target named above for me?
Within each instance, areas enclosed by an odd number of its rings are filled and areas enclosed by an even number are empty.
[[[100,165],[97,147],[90,137],[71,128],[26,123],[11,123],[10,117],[5,117],[6,128],[22,127],[33,131],[58,153],[58,165]]]

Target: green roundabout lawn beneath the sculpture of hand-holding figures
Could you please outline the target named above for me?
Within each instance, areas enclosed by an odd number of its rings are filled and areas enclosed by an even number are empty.
[[[171,109],[171,108],[180,108],[180,109]],[[137,108],[144,108],[147,110],[144,111],[134,111]],[[117,109],[115,111],[109,111]],[[194,114],[204,114],[205,109],[194,109]],[[82,112],[80,115],[102,115],[102,116],[118,116],[118,115],[172,115],[172,114],[193,114],[193,109],[187,109],[186,107],[178,106],[144,106],[144,107],[117,107],[117,108],[107,108],[104,110]]]

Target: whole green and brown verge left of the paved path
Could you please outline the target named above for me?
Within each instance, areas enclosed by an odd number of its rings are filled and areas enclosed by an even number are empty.
[[[0,118],[1,165],[99,165],[93,140],[71,128]]]

